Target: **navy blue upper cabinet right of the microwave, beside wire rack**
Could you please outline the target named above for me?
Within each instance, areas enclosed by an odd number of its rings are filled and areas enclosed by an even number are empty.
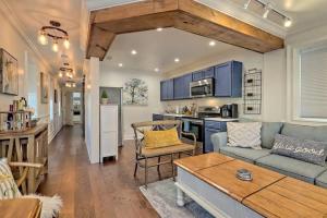
[[[229,61],[215,68],[215,96],[242,97],[243,64]]]

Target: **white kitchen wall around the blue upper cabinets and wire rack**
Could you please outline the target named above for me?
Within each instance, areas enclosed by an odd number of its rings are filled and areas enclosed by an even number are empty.
[[[251,119],[259,119],[265,121],[282,121],[284,120],[284,90],[286,90],[286,72],[284,72],[284,49],[268,52],[265,55],[250,51],[242,48],[234,48],[222,55],[208,57],[194,64],[180,68],[172,72],[167,72],[166,77],[174,77],[177,75],[193,72],[206,66],[223,63],[230,60],[243,62],[244,70],[261,69],[263,71],[263,105],[262,114],[249,116],[243,114],[243,98],[199,98],[192,100],[175,100],[165,102],[169,106],[185,106],[195,102],[197,106],[221,106],[225,104],[239,104],[239,112],[241,117]]]

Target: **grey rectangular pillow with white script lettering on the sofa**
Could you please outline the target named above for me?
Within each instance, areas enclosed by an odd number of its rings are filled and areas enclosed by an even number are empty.
[[[327,157],[327,142],[315,142],[277,134],[271,154],[283,155],[324,167]]]

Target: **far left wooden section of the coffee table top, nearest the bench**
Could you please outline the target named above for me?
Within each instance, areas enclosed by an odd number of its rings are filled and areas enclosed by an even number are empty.
[[[214,167],[217,165],[221,165],[228,161],[234,160],[234,158],[221,155],[219,153],[208,153],[205,155],[198,155],[198,156],[192,156],[192,157],[185,157],[182,159],[174,160],[173,164],[175,164],[178,167],[183,168],[184,170],[187,170],[189,172],[196,172],[198,170]]]

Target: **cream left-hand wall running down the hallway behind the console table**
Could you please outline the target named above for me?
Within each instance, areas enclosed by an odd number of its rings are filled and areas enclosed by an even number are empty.
[[[5,49],[9,53],[17,59],[19,62],[19,96],[10,96],[0,93],[0,110],[9,110],[9,105],[12,104],[14,99],[20,99],[21,97],[25,97],[27,99],[28,89],[33,89],[36,92],[37,97],[37,112],[38,117],[43,118],[44,122],[49,122],[49,111],[50,111],[50,99],[53,98],[53,88],[58,89],[58,94],[60,95],[60,87],[58,85],[58,81],[51,76],[50,70],[48,69],[47,63],[41,60],[41,57],[37,55],[34,49],[34,45],[25,38],[25,34],[22,32],[19,23],[12,14],[9,14],[3,2],[0,2],[0,47]],[[40,76],[39,72],[47,73],[48,84],[51,89],[49,89],[48,104],[40,104]],[[34,77],[34,80],[32,78]],[[33,80],[33,84],[28,83],[28,81]],[[31,85],[35,86],[35,88],[31,88]],[[60,99],[60,98],[59,98]],[[59,104],[53,106],[53,111],[58,111]],[[53,122],[49,123],[49,141],[53,138],[53,136],[61,129],[60,118],[58,113],[56,114],[56,119]]]

